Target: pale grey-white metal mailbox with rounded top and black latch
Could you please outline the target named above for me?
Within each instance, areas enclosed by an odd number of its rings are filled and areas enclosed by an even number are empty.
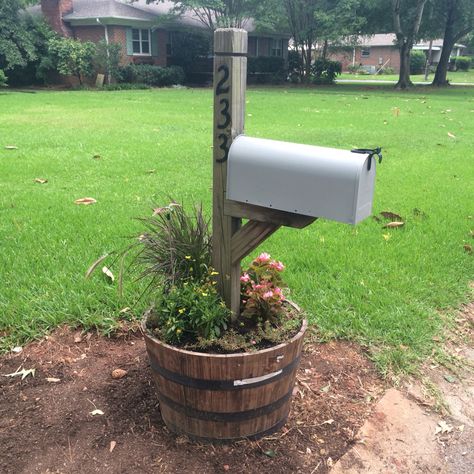
[[[240,135],[229,151],[226,197],[356,224],[371,214],[374,182],[368,152]]]

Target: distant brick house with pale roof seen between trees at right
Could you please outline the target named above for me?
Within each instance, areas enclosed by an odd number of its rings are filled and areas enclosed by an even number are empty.
[[[465,46],[456,44],[453,56],[460,56]],[[342,69],[347,71],[351,65],[364,66],[369,70],[376,71],[380,67],[391,67],[395,72],[400,71],[400,53],[396,44],[396,36],[390,34],[376,34],[373,36],[361,36],[358,44],[351,48],[345,47],[345,52],[337,52],[332,55],[333,59],[342,62]],[[429,41],[417,43],[414,50],[423,51],[428,54]],[[437,39],[432,45],[432,64],[436,65],[441,57],[443,40]]]

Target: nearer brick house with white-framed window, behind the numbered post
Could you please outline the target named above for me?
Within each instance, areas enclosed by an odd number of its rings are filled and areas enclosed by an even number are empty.
[[[203,30],[191,13],[171,16],[169,1],[147,4],[146,0],[41,0],[29,9],[42,15],[62,36],[82,41],[102,39],[122,45],[121,63],[172,64],[173,35],[183,30]],[[252,21],[249,33],[250,57],[288,57],[288,34],[258,33]]]

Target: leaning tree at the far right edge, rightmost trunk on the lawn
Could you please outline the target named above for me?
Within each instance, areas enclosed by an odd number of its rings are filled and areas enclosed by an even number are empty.
[[[438,21],[444,24],[444,37],[443,49],[432,85],[443,87],[449,85],[448,65],[454,45],[474,31],[474,2],[473,0],[438,0],[436,6],[441,18]]]

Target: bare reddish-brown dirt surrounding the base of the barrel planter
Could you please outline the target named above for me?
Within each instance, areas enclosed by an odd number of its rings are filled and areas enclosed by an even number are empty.
[[[258,442],[203,445],[163,425],[141,338],[78,341],[61,329],[0,358],[2,375],[36,369],[24,380],[0,376],[0,472],[327,472],[382,392],[358,346],[307,344],[282,431]],[[117,368],[126,376],[112,378]]]

